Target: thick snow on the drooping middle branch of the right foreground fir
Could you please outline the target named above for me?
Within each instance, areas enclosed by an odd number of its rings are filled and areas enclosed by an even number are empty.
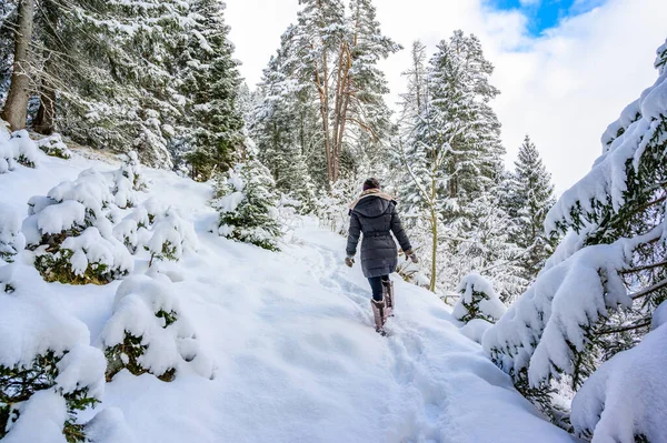
[[[631,240],[591,245],[547,269],[485,333],[485,350],[508,373],[528,368],[534,386],[558,376],[558,370],[571,374],[570,345],[584,350],[589,324],[618,306],[631,305],[618,271],[637,244],[660,234],[658,229]]]

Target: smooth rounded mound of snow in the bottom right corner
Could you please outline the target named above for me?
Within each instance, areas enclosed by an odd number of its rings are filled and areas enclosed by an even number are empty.
[[[593,443],[667,441],[667,326],[660,325],[635,348],[616,354],[584,383],[573,401],[579,433],[595,431]]]

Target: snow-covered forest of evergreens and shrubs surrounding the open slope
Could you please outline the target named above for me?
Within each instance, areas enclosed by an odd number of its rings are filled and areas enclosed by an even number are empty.
[[[432,50],[418,40],[404,48],[382,32],[376,3],[299,0],[255,85],[239,73],[222,1],[2,1],[0,179],[11,187],[40,155],[122,158],[117,170],[83,171],[31,198],[26,214],[0,187],[2,303],[14,296],[9,269],[28,255],[49,284],[122,280],[122,296],[145,288],[148,305],[166,298],[148,310],[166,324],[150,332],[161,344],[141,341],[149,330],[116,295],[116,323],[92,344],[101,363],[80,364],[104,365],[107,382],[123,368],[171,381],[176,363],[151,369],[158,349],[177,354],[165,331],[196,335],[176,321],[176,295],[151,295],[169,291],[135,275],[133,256],[153,269],[202,240],[186,215],[140,204],[141,165],[209,187],[210,232],[273,254],[298,248],[290,226],[300,220],[347,236],[348,204],[372,177],[398,202],[419,259],[399,251],[400,280],[451,309],[546,420],[585,441],[667,441],[667,42],[655,42],[656,82],[599,128],[590,148],[599,158],[557,195],[529,134],[506,161],[494,109],[501,91],[482,42],[455,30]],[[380,66],[398,51],[410,63],[395,104]],[[76,349],[47,348],[21,359],[0,349],[0,440],[27,441],[13,425],[29,415],[21,405],[61,386],[67,441],[98,441],[77,419],[98,402],[94,385],[81,375],[68,390],[58,376],[68,369],[53,370]]]

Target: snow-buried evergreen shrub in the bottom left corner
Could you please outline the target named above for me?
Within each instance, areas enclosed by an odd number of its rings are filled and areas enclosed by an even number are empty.
[[[14,291],[0,292],[0,439],[43,441],[58,430],[83,442],[77,412],[101,400],[104,356],[89,345],[88,328],[44,296],[32,268],[9,266]]]

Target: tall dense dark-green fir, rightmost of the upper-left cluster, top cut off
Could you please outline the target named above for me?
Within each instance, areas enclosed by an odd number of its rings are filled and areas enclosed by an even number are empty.
[[[243,143],[238,103],[241,78],[228,38],[225,3],[191,0],[189,18],[190,38],[180,60],[179,90],[187,101],[187,137],[180,149],[186,151],[192,178],[206,181],[216,170],[227,171]]]

